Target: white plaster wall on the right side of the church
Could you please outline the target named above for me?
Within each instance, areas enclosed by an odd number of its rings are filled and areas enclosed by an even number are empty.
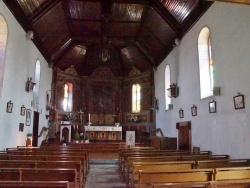
[[[215,86],[221,96],[200,99],[197,40],[200,30],[209,27],[215,68]],[[165,136],[176,137],[176,122],[191,121],[193,146],[232,158],[250,157],[250,6],[215,2],[159,65],[155,92],[159,98],[156,126]],[[177,82],[180,96],[174,109],[165,111],[164,70],[170,64],[171,82]],[[235,110],[233,96],[245,95],[245,109]],[[217,113],[209,113],[208,103],[217,102]],[[195,104],[198,115],[191,116]],[[179,118],[179,109],[184,118]]]

